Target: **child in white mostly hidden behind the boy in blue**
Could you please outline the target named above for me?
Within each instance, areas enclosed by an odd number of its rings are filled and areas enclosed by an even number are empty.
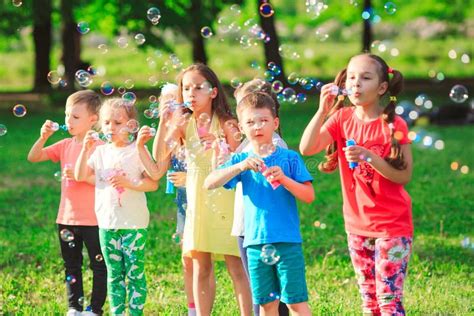
[[[280,109],[280,103],[278,102],[278,99],[275,93],[273,93],[272,85],[270,83],[268,83],[267,81],[263,81],[261,79],[254,79],[239,86],[234,91],[234,97],[235,97],[235,100],[237,101],[237,104],[239,104],[240,100],[242,100],[244,96],[246,96],[247,94],[251,92],[263,92],[271,96],[276,106],[275,107],[276,117],[278,119],[280,118],[278,114],[279,109]],[[277,132],[278,133],[273,132],[272,143],[275,146],[288,149],[288,145],[279,135],[281,134],[280,125],[278,125]],[[235,150],[235,153],[249,152],[251,150],[252,150],[252,144],[250,144],[248,138],[245,138],[244,141],[239,145],[239,147],[237,147],[237,149]],[[245,251],[245,248],[243,247],[244,245],[244,197],[242,195],[242,183],[240,182],[237,183],[237,186],[235,188],[234,223],[232,225],[231,235],[237,237],[237,240],[239,242],[240,258],[242,259],[242,264],[244,265],[245,273],[247,274],[247,277],[249,277],[247,252]],[[259,311],[260,311],[260,306],[258,304],[254,304],[253,306],[254,315],[258,316]],[[286,307],[286,304],[280,302],[278,306],[278,312],[280,316],[288,315],[289,311],[288,311],[288,307]]]

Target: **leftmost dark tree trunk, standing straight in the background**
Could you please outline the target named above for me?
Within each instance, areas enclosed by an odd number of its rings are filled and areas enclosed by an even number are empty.
[[[33,1],[35,46],[35,79],[33,91],[43,92],[51,88],[48,82],[51,51],[51,0]]]

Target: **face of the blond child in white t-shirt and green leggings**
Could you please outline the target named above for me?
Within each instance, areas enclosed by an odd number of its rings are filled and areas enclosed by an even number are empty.
[[[101,111],[102,132],[112,143],[128,143],[127,122],[130,120],[124,108],[106,107]]]

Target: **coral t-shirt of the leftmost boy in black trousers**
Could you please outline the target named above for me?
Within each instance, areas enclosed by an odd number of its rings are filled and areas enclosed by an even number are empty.
[[[96,142],[95,146],[100,144]],[[94,149],[95,149],[94,146]],[[53,162],[61,163],[61,170],[69,164],[74,170],[76,160],[82,149],[82,142],[73,138],[63,139],[45,148]],[[91,151],[92,153],[93,151]],[[56,223],[63,225],[97,226],[94,210],[95,186],[74,180],[61,181],[61,202]]]

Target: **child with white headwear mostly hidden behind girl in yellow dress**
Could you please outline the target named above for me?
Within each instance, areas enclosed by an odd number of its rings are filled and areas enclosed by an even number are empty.
[[[160,95],[160,112],[163,114],[163,107],[164,105],[173,105],[177,104],[178,99],[178,86],[172,83],[168,83],[163,86],[161,89]],[[176,106],[176,105],[175,105]],[[165,134],[166,129],[163,128],[165,124],[162,124],[163,120],[160,121],[158,127],[158,139],[161,135]],[[168,169],[169,164],[173,169],[173,172],[169,174],[168,180],[173,183],[176,187],[176,206],[177,206],[177,213],[176,213],[176,237],[173,235],[173,239],[175,240],[182,240],[183,233],[184,233],[184,223],[186,220],[186,207],[187,207],[187,199],[186,199],[186,162],[185,162],[185,147],[183,144],[177,146],[171,156],[166,163],[156,164],[152,158],[148,150],[145,148],[145,144],[152,138],[152,133],[150,132],[150,127],[143,126],[138,133],[137,138],[137,148],[140,154],[140,159],[145,167],[145,170],[150,175],[153,180],[158,181]],[[157,142],[154,142],[154,145],[157,145]],[[171,160],[171,161],[170,161]],[[180,242],[181,243],[181,242]],[[183,274],[184,274],[184,290],[186,293],[187,298],[187,305],[188,305],[188,315],[194,316],[196,315],[194,297],[193,297],[193,261],[188,256],[181,257],[182,264],[183,264]],[[212,273],[212,277],[210,278],[210,288],[211,293],[215,293],[215,279],[214,274]]]

